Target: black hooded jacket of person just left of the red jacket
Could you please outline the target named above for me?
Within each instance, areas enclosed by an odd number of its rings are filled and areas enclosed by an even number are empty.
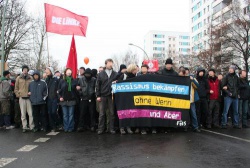
[[[204,75],[201,77],[199,76],[200,72],[204,72]],[[197,88],[198,94],[200,98],[207,98],[209,92],[210,92],[210,87],[208,84],[208,80],[205,78],[205,69],[203,68],[198,68],[197,69],[197,81],[199,82],[199,87]]]

